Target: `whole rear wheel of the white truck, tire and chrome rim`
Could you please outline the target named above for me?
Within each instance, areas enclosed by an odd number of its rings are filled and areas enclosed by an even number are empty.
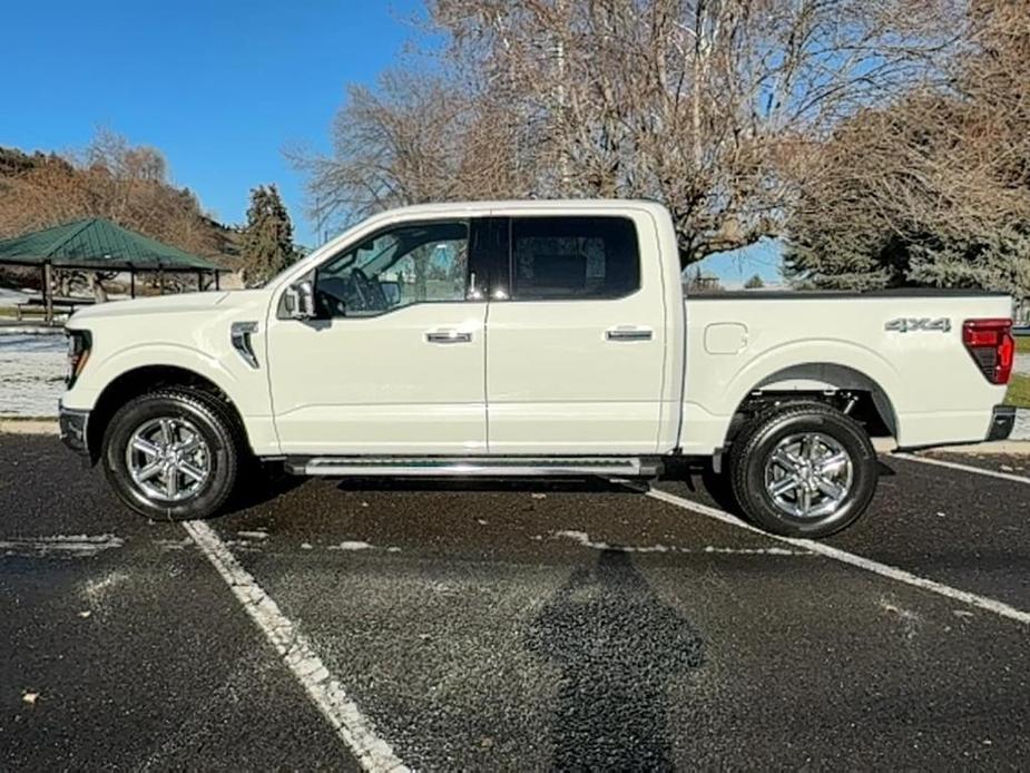
[[[730,450],[740,509],[788,537],[826,537],[865,512],[876,491],[876,451],[854,419],[817,402],[761,413]]]

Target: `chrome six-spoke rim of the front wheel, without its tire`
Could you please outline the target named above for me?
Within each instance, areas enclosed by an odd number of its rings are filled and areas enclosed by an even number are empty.
[[[210,449],[186,419],[160,417],[140,424],[125,451],[133,482],[148,499],[179,502],[204,488],[212,473]]]

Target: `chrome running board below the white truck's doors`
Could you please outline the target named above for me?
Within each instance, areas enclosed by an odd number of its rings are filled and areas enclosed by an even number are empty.
[[[654,478],[661,462],[640,457],[292,457],[286,471],[301,476],[470,477],[600,476]]]

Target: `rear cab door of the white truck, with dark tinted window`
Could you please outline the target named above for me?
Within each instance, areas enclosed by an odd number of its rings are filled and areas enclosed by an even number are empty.
[[[532,215],[493,226],[490,453],[654,453],[666,310],[650,218]]]

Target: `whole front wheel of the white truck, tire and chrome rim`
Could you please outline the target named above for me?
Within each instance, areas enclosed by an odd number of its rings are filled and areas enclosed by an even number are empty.
[[[155,520],[206,518],[236,483],[235,423],[217,398],[186,388],[143,394],[104,434],[107,479],[133,510]]]

